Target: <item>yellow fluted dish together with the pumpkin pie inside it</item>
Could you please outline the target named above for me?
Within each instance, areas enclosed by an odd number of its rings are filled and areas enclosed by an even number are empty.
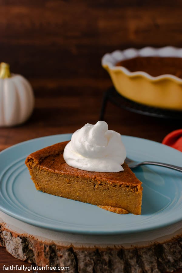
[[[182,111],[182,48],[116,50],[102,58],[120,95],[136,103]]]

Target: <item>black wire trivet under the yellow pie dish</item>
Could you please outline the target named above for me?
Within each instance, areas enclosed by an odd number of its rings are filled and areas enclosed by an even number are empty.
[[[182,111],[166,110],[157,107],[147,106],[140,103],[136,103],[130,99],[126,99],[120,95],[114,86],[110,87],[103,95],[103,102],[100,111],[100,120],[104,120],[104,114],[106,110],[107,102],[110,101],[116,106],[129,110],[134,113],[165,118],[165,119],[182,119]]]

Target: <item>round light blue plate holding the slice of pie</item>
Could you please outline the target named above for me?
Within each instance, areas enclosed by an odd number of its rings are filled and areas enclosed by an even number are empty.
[[[84,234],[132,233],[182,220],[182,173],[164,167],[134,169],[143,182],[141,215],[119,215],[91,204],[37,191],[25,166],[32,152],[71,134],[46,136],[14,145],[0,153],[0,210],[26,223],[57,231]],[[157,142],[122,136],[127,156],[182,165],[182,153]]]

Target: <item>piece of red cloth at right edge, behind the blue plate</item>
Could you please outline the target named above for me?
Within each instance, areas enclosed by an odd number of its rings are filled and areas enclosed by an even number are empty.
[[[169,133],[164,137],[162,143],[182,152],[182,129]]]

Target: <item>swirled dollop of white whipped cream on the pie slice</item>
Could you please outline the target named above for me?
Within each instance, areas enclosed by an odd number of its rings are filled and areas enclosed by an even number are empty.
[[[87,123],[73,133],[63,153],[69,166],[92,172],[119,172],[126,158],[121,135],[105,121]]]

